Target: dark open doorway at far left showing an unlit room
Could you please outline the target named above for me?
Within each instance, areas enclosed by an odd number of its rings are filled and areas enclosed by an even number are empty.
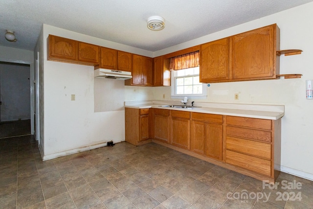
[[[30,65],[0,62],[0,139],[31,134]]]

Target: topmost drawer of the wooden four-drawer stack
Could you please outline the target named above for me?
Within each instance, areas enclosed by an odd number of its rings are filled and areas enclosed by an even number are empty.
[[[267,119],[258,119],[250,117],[227,116],[227,125],[244,126],[249,128],[257,128],[264,130],[272,130],[272,122]]]

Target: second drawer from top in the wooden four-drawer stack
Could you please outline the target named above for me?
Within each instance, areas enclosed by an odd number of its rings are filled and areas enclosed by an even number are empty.
[[[226,126],[226,135],[271,142],[271,132]]]

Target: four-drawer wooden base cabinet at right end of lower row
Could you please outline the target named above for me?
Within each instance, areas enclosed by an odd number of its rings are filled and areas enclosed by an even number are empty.
[[[275,180],[280,170],[281,119],[226,116],[228,164]]]

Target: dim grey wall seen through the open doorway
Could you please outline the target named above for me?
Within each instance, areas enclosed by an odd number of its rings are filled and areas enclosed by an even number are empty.
[[[1,121],[30,119],[30,68],[0,64]]]

